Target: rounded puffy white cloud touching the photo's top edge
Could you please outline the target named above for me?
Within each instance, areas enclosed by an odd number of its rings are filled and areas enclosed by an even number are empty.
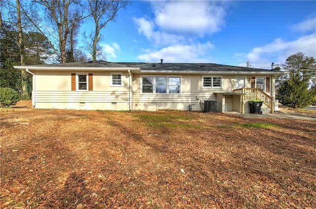
[[[213,1],[152,1],[155,23],[168,33],[203,36],[224,25],[225,9]]]

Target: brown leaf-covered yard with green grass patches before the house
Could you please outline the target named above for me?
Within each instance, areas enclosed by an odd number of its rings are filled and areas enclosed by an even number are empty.
[[[0,208],[316,208],[316,120],[0,110]]]

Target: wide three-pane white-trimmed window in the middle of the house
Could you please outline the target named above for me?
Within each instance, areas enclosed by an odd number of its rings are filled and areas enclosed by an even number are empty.
[[[143,94],[180,94],[180,76],[142,76]]]

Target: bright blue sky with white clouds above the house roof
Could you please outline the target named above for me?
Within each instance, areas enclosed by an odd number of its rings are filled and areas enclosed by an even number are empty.
[[[297,52],[316,58],[316,1],[134,0],[101,34],[110,62],[271,69]]]

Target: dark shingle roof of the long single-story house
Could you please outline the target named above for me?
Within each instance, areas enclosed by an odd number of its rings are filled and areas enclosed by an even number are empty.
[[[112,63],[106,61],[89,61],[81,63],[60,63],[36,65],[36,67],[72,67],[72,68],[139,68],[157,71],[249,71],[267,72],[271,70],[245,68],[212,63]]]

